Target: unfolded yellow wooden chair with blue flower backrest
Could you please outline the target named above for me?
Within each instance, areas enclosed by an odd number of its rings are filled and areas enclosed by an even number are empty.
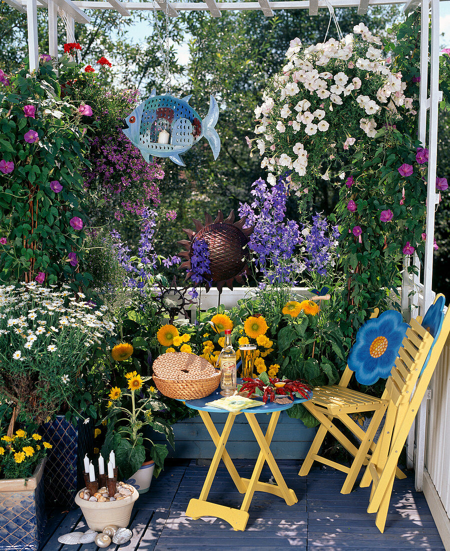
[[[408,324],[402,321],[399,312],[383,312],[378,318],[377,315],[378,309],[375,309],[370,320],[360,328],[356,343],[349,355],[349,364],[346,366],[338,385],[314,388],[313,398],[303,404],[321,425],[305,461],[303,461],[299,475],[306,476],[315,461],[334,467],[347,474],[341,488],[341,493],[343,494],[350,493],[361,467],[370,460],[370,452],[375,450],[376,444],[373,441],[373,437],[388,407],[386,390],[381,398],[376,398],[348,388],[351,377],[354,374],[354,370],[351,368],[355,366],[356,379],[365,384],[371,384],[378,380],[379,377],[386,379],[391,372],[395,358],[399,354],[406,329],[409,327]],[[395,331],[389,327],[390,324],[395,326]],[[386,335],[388,335],[389,341]],[[360,341],[362,341],[363,345],[362,359],[356,361],[355,354],[357,356],[358,352],[361,352]],[[364,349],[364,343],[366,343],[366,349]],[[367,431],[362,430],[361,426],[351,417],[352,414],[364,412],[373,412],[373,417]],[[335,425],[334,419],[343,423],[361,441],[359,447],[343,434]],[[350,467],[319,455],[319,449],[327,433],[332,434],[354,456]],[[398,468],[396,475],[398,478],[405,478],[405,475]]]

